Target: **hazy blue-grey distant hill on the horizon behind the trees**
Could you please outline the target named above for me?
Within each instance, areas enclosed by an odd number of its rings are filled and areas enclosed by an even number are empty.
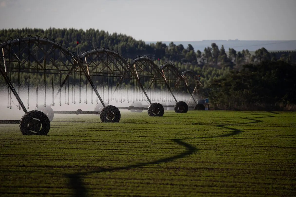
[[[162,41],[168,45],[171,41]],[[146,42],[156,43],[155,41]],[[256,51],[259,48],[266,48],[268,51],[294,51],[296,50],[296,40],[202,40],[202,41],[173,41],[174,44],[182,44],[185,48],[191,44],[194,51],[203,51],[205,47],[210,47],[212,43],[221,48],[224,45],[226,51],[229,48],[234,48],[236,51],[248,49],[249,51]]]

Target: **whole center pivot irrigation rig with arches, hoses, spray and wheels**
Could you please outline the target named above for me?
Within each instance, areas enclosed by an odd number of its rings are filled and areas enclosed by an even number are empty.
[[[189,105],[194,108],[198,105],[197,93],[202,87],[199,77],[192,71],[180,73],[170,62],[156,65],[145,56],[127,62],[126,58],[109,48],[92,48],[75,55],[62,43],[38,35],[18,36],[15,40],[11,38],[0,43],[0,72],[8,92],[7,108],[12,108],[11,94],[14,94],[17,108],[25,112],[20,121],[0,122],[20,123],[23,135],[46,135],[55,113],[96,114],[102,122],[119,122],[120,109],[132,112],[148,110],[149,116],[163,116],[166,108],[186,113]],[[20,91],[26,92],[27,108]],[[35,110],[28,111],[32,91],[36,91],[36,106]],[[83,91],[85,103],[89,102],[87,92],[91,91],[91,104],[96,104],[94,111],[54,111],[51,108],[57,97],[60,106],[62,99],[69,105],[70,92],[72,103],[81,103]],[[40,97],[43,97],[43,105],[38,105]],[[79,97],[78,101],[76,97]],[[129,106],[115,107],[109,105],[110,102],[127,102]]]

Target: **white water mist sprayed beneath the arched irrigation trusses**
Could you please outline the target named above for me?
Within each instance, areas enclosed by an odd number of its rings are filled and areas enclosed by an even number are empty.
[[[114,105],[116,107],[128,107],[130,105],[134,105],[135,103],[141,103],[144,106],[149,106],[149,101],[141,90],[118,90],[112,94],[115,88],[105,88],[102,91],[102,88],[99,87],[98,93],[101,96],[102,100],[105,104]],[[17,88],[16,88],[17,90]],[[52,95],[52,89],[48,88],[45,92],[43,88],[38,87],[38,94],[36,95],[36,87],[28,89],[27,87],[23,87],[20,89],[20,98],[25,105],[28,111],[35,110],[36,104],[38,104],[39,108],[43,107],[44,103],[46,105],[51,106],[54,111],[76,111],[77,109],[81,109],[83,111],[94,111],[94,108],[97,103],[100,103],[94,91],[91,88],[84,89],[81,87],[81,92],[79,93],[79,87],[69,88],[69,92],[65,88],[62,89],[61,93],[57,94],[57,88],[54,90],[54,99]],[[134,91],[134,92],[133,92]],[[18,92],[18,91],[17,91]],[[11,97],[10,97],[11,94]],[[159,102],[162,105],[174,105],[176,102],[173,99],[173,96],[170,94],[168,90],[163,91],[147,91],[147,95],[151,102]],[[60,97],[61,96],[61,97]],[[186,101],[190,99],[189,93],[176,93],[174,92],[174,96],[178,101]],[[28,99],[29,98],[29,99]],[[45,98],[45,99],[44,99]],[[37,102],[36,102],[37,101]],[[54,106],[52,105],[54,101]],[[61,101],[61,106],[60,106]],[[79,103],[79,101],[81,101]],[[109,103],[108,103],[109,101]],[[75,102],[75,104],[74,104]],[[87,102],[87,103],[86,103]],[[93,104],[91,104],[91,102]],[[11,109],[7,108],[7,106]],[[24,115],[23,110],[19,110],[17,108],[18,102],[15,95],[7,90],[7,87],[2,86],[0,91],[0,120],[3,119],[20,119],[22,115]],[[29,108],[28,108],[29,105]],[[135,106],[136,107],[136,106]]]

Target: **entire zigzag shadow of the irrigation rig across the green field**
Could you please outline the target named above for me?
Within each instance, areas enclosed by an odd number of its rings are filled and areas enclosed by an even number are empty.
[[[258,118],[269,118],[269,117],[274,117],[272,115],[268,115],[268,116],[263,116],[263,117],[258,117]],[[223,135],[218,135],[218,136],[210,136],[210,137],[192,137],[192,138],[184,138],[184,139],[201,139],[201,138],[215,138],[215,137],[229,137],[229,136],[233,136],[233,135],[237,135],[239,133],[241,133],[242,131],[240,129],[237,128],[231,128],[231,127],[227,127],[230,125],[242,125],[242,124],[254,124],[254,123],[259,123],[259,122],[263,122],[261,120],[256,120],[256,119],[251,119],[251,118],[242,118],[242,119],[246,119],[246,120],[250,120],[252,122],[246,122],[246,123],[233,123],[233,124],[220,124],[220,125],[216,125],[217,127],[221,127],[221,128],[226,128],[226,129],[230,129],[232,130],[231,133],[226,133]],[[184,140],[182,139],[182,140]],[[152,161],[152,162],[144,162],[144,163],[139,163],[139,164],[134,164],[134,165],[128,165],[128,166],[124,166],[124,167],[115,167],[115,168],[100,168],[99,170],[93,170],[90,172],[81,172],[81,173],[74,173],[74,174],[67,174],[66,177],[69,178],[69,182],[68,182],[68,187],[69,188],[73,188],[73,196],[74,197],[86,197],[87,195],[87,189],[83,183],[83,176],[89,175],[91,173],[101,173],[101,172],[111,172],[111,171],[116,171],[116,170],[130,170],[136,167],[143,167],[146,165],[154,165],[154,164],[160,164],[160,163],[165,163],[165,162],[169,162],[175,159],[180,159],[183,157],[186,157],[190,154],[193,154],[194,152],[197,152],[197,148],[195,148],[194,146],[192,146],[191,144],[188,144],[184,141],[182,141],[181,139],[171,139],[172,141],[176,142],[177,144],[184,146],[187,150],[181,154],[172,156],[172,157],[166,157],[163,159],[158,159],[156,161]]]

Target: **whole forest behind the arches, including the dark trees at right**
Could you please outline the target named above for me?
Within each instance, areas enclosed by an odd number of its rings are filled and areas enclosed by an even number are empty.
[[[160,63],[172,61],[180,71],[191,69],[201,75],[205,85],[202,95],[210,98],[215,109],[296,109],[296,51],[270,53],[260,48],[251,54],[248,49],[236,51],[229,48],[226,52],[223,45],[219,47],[215,43],[203,51],[195,51],[190,44],[186,47],[173,42],[148,45],[127,35],[94,29],[3,29],[0,30],[0,42],[27,35],[54,39],[73,52],[78,41],[78,51],[82,52],[105,47],[128,59],[145,55],[159,58]]]

